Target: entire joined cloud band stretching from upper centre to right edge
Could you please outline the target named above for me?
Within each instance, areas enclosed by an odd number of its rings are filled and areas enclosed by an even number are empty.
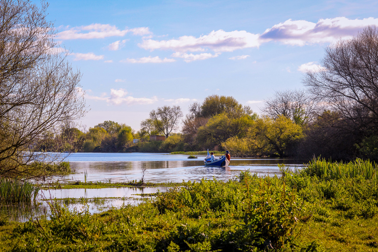
[[[154,51],[172,50],[174,52],[232,52],[237,49],[259,47],[269,41],[278,41],[283,44],[303,46],[315,43],[330,43],[340,38],[350,38],[358,31],[369,25],[378,26],[378,18],[347,19],[337,17],[320,19],[317,23],[306,20],[286,20],[284,23],[274,25],[262,34],[247,31],[225,32],[212,31],[209,34],[195,36],[181,36],[177,39],[154,40],[144,38],[138,46]],[[240,57],[248,57],[242,55]],[[232,60],[245,58],[231,57]]]

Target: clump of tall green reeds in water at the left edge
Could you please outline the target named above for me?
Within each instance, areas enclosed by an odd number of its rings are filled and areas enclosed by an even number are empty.
[[[30,203],[35,200],[40,188],[30,182],[1,178],[0,202],[2,204]]]

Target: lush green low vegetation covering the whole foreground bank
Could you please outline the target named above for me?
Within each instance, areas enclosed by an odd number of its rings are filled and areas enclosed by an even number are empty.
[[[280,178],[247,171],[228,182],[186,182],[154,194],[153,202],[95,215],[53,204],[49,221],[0,226],[0,249],[375,251],[377,181],[324,176],[317,173],[323,164],[331,165],[315,159],[301,171],[282,167]],[[346,169],[363,165],[369,162],[357,160]]]

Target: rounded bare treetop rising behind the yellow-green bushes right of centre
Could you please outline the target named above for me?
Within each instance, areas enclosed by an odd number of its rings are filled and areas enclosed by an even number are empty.
[[[305,90],[277,91],[265,101],[262,112],[272,118],[284,116],[299,125],[308,124],[315,117],[316,104]]]

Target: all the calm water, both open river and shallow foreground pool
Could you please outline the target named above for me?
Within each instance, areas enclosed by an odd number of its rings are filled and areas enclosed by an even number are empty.
[[[61,155],[61,154],[53,154]],[[64,155],[64,154],[63,154]],[[87,173],[87,181],[103,182],[127,182],[139,181],[142,178],[142,170],[145,169],[144,180],[149,182],[182,182],[200,181],[202,178],[228,181],[240,174],[241,171],[250,170],[259,176],[280,176],[278,164],[289,167],[303,167],[302,162],[292,159],[279,158],[232,158],[227,167],[205,167],[205,156],[197,156],[197,159],[188,159],[187,155],[151,154],[151,153],[74,153],[66,160],[70,162],[75,174],[57,176],[53,181],[60,182],[84,181]],[[56,157],[54,157],[56,158]],[[70,210],[83,211],[88,209],[90,213],[98,213],[113,207],[119,208],[123,204],[135,205],[142,202],[141,193],[164,192],[166,187],[159,188],[104,188],[104,189],[51,189],[41,190],[39,199],[63,199],[63,198],[101,198],[100,203],[89,202],[69,204]],[[114,198],[116,197],[116,198]],[[148,197],[149,198],[149,197]],[[38,200],[39,206],[35,209],[0,208],[9,216],[10,220],[28,221],[31,216],[50,214],[48,202]],[[62,204],[64,201],[61,201]]]

